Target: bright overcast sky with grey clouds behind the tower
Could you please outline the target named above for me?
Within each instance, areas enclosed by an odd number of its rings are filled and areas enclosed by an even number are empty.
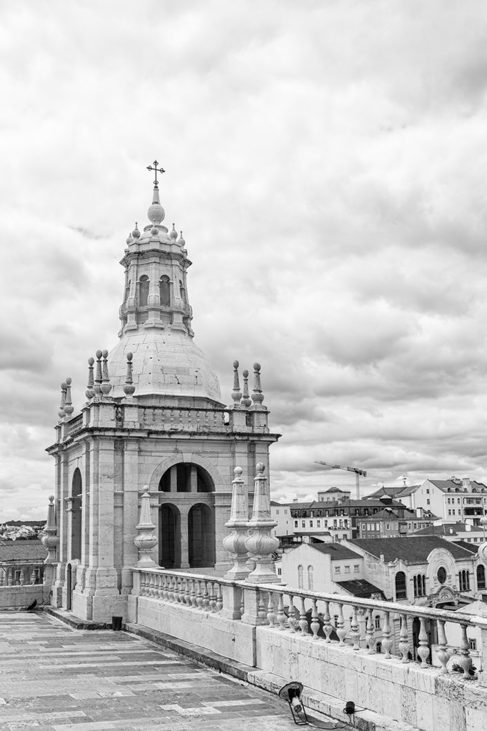
[[[195,341],[263,366],[273,496],[487,480],[483,0],[0,4],[0,520],[116,342],[156,157]]]

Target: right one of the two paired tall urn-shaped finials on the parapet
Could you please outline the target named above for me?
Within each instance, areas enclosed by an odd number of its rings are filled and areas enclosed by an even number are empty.
[[[267,488],[265,466],[257,464],[257,476],[254,479],[254,505],[252,518],[249,520],[249,537],[245,539],[245,547],[255,561],[255,568],[246,577],[250,583],[281,583],[276,576],[272,554],[279,548],[279,538],[271,534],[277,525],[271,519],[271,496]]]

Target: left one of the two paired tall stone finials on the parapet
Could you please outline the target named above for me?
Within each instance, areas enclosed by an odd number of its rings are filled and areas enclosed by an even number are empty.
[[[231,529],[223,539],[223,548],[233,554],[233,567],[227,571],[227,579],[241,580],[249,575],[246,561],[249,556],[245,545],[249,523],[249,491],[242,479],[241,467],[235,467],[232,482],[232,508],[230,520],[225,523]]]

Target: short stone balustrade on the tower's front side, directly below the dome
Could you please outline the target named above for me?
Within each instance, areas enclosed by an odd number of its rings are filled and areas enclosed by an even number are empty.
[[[224,409],[143,406],[141,410],[141,423],[145,428],[162,428],[165,431],[231,431],[229,412]]]

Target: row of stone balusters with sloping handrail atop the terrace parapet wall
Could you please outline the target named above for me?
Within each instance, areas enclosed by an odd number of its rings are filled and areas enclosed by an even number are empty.
[[[452,672],[449,660],[453,656],[453,664],[461,670],[462,677],[468,680],[473,677],[467,629],[480,626],[482,620],[475,616],[348,595],[317,594],[274,584],[254,586],[166,569],[136,570],[140,573],[140,596],[178,603],[195,611],[226,610],[226,616],[233,612],[237,621],[243,618],[247,624],[266,624],[278,632],[298,633],[316,642],[333,643],[338,648],[348,645],[353,651],[366,651],[370,655],[377,654],[376,643],[380,640],[380,658],[393,658],[392,650],[401,662],[407,663],[415,659],[412,654],[415,652],[420,667],[431,668],[432,660],[437,659],[441,673]],[[233,588],[233,594],[225,593],[227,587]],[[232,606],[226,604],[225,596],[233,597]],[[243,616],[247,600],[249,607],[256,607],[254,618]],[[459,648],[453,653],[450,653],[453,645],[448,644],[445,624],[460,628]],[[482,626],[486,629],[487,622]],[[432,645],[435,645],[434,658]]]

